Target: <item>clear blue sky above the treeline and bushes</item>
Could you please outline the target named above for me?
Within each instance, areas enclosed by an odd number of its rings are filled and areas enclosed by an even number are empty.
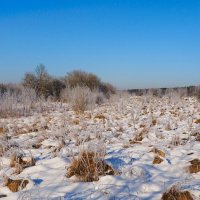
[[[200,84],[200,0],[0,0],[0,82],[43,63],[119,88]]]

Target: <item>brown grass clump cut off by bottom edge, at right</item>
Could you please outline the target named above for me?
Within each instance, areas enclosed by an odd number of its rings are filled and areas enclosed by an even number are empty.
[[[193,200],[189,191],[180,191],[177,186],[172,186],[163,195],[161,200]]]

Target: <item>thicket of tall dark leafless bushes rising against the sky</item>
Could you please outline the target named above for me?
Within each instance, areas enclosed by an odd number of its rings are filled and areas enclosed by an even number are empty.
[[[87,87],[92,92],[101,92],[107,98],[115,93],[115,88],[111,84],[101,82],[95,74],[74,70],[69,72],[64,79],[58,79],[51,77],[42,64],[36,67],[35,73],[26,73],[22,84],[26,88],[34,89],[37,97],[47,99],[49,96],[53,96],[56,100],[63,100],[64,98],[64,101],[68,96],[66,92],[69,88]],[[67,89],[64,90],[65,88]],[[102,99],[99,96],[97,103],[101,103],[101,101]]]

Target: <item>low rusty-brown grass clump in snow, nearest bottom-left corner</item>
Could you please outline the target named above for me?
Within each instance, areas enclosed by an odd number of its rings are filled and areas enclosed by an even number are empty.
[[[23,190],[28,183],[29,183],[28,180],[23,180],[23,179],[13,180],[9,177],[4,177],[5,186],[7,186],[12,192],[18,192],[20,190]]]

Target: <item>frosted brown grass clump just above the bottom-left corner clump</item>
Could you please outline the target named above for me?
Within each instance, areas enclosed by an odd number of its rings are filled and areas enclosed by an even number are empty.
[[[10,167],[15,168],[16,169],[15,172],[17,174],[20,174],[23,171],[23,169],[34,165],[35,165],[35,159],[32,156],[27,161],[24,160],[22,154],[14,153],[11,156]]]

